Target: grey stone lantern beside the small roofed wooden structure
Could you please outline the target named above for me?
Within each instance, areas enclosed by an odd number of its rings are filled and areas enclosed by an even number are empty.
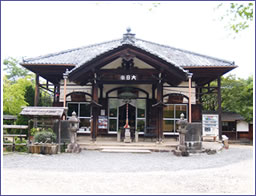
[[[81,148],[78,143],[76,143],[77,138],[77,131],[79,129],[79,122],[80,120],[76,117],[76,113],[72,113],[72,117],[68,120],[69,121],[69,133],[70,133],[70,144],[66,152],[78,153],[81,152]]]

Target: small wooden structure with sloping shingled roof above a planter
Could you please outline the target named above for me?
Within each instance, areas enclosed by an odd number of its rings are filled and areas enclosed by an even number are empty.
[[[25,107],[21,111],[21,115],[29,116],[32,118],[50,118],[51,120],[59,121],[59,130],[58,130],[58,151],[60,152],[60,133],[61,133],[61,119],[63,116],[66,116],[67,108],[64,107]],[[28,131],[30,136],[30,130]]]

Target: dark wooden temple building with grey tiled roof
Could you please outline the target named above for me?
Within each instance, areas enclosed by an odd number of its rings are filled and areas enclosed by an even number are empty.
[[[35,105],[40,88],[52,92],[53,106],[68,107],[67,118],[75,111],[80,130],[93,139],[124,127],[126,104],[131,130],[151,130],[157,138],[177,135],[181,113],[189,122],[202,121],[203,89],[218,93],[221,119],[221,76],[237,67],[138,39],[130,29],[121,39],[24,59],[21,65],[36,74]],[[210,85],[214,80],[217,86]],[[218,131],[221,139],[221,123]]]

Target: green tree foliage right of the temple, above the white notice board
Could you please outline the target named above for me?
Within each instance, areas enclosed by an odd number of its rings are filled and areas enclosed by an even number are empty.
[[[211,86],[217,86],[216,81]],[[253,77],[236,79],[234,75],[221,79],[222,110],[236,112],[246,121],[253,120]],[[216,111],[218,107],[217,93],[207,94],[202,97],[203,109]]]

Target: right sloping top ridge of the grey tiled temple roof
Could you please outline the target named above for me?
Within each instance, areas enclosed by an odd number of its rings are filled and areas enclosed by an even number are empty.
[[[144,41],[144,42],[147,42],[147,43],[150,43],[150,44],[155,44],[155,45],[165,47],[165,48],[171,48],[171,49],[174,49],[174,50],[178,50],[178,51],[181,51],[181,52],[186,52],[186,53],[201,56],[201,57],[211,58],[211,59],[214,59],[214,60],[217,60],[217,61],[230,63],[232,65],[235,64],[234,61],[228,61],[228,60],[225,60],[225,59],[220,59],[220,58],[212,57],[212,56],[209,56],[209,55],[204,55],[204,54],[200,54],[200,53],[197,53],[197,52],[192,52],[192,51],[189,51],[189,50],[184,50],[184,49],[181,49],[181,48],[172,47],[172,46],[169,46],[169,45],[158,44],[158,43],[155,43],[155,42],[152,42],[152,41],[147,41],[147,40],[138,39],[138,38],[136,38],[136,40]]]

